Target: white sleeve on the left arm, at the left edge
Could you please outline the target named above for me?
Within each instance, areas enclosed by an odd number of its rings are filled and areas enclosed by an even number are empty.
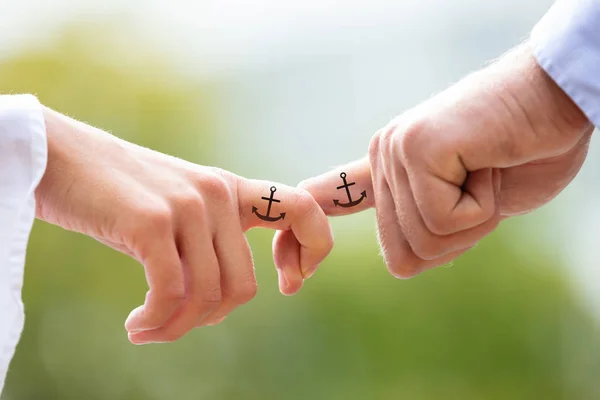
[[[21,301],[34,191],[46,169],[42,106],[31,95],[0,96],[0,392],[23,329]]]

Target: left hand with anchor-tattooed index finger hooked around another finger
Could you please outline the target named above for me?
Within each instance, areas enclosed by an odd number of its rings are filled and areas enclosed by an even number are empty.
[[[166,156],[48,109],[45,118],[49,156],[37,217],[144,265],[146,301],[126,322],[132,343],[176,340],[249,301],[250,228],[286,231],[274,254],[284,294],[300,290],[331,250],[327,217],[304,190],[275,185],[279,202],[269,215],[280,219],[264,221],[261,197],[272,183]]]

